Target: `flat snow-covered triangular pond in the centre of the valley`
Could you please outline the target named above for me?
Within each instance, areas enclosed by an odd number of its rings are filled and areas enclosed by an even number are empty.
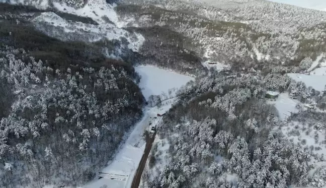
[[[139,87],[146,99],[150,95],[160,95],[162,92],[168,93],[169,89],[180,88],[187,82],[194,80],[193,77],[169,72],[156,67],[138,66],[136,72],[141,76]],[[175,96],[176,92],[173,92]]]

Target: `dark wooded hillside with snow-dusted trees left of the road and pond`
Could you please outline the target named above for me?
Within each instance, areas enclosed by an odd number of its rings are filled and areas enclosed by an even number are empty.
[[[0,187],[93,179],[142,115],[140,77],[95,44],[0,25]]]

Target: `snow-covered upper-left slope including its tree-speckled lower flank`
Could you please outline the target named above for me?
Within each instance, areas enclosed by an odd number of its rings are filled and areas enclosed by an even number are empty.
[[[40,7],[34,1],[25,2],[24,5]],[[48,4],[44,5],[46,5],[43,6],[44,8],[48,8]],[[101,39],[124,41],[123,38],[125,38],[127,43],[122,43],[132,51],[138,51],[145,38],[141,34],[123,29],[125,21],[119,20],[114,7],[114,5],[107,4],[105,0],[88,1],[79,9],[69,7],[65,3],[53,2],[53,8],[59,12],[91,18],[97,24],[66,20],[54,12],[41,13],[31,21],[38,30],[60,40],[76,40],[76,36],[78,36],[77,40],[86,42]]]

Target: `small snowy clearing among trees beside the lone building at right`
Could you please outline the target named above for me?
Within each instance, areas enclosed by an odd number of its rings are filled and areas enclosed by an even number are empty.
[[[286,119],[292,113],[297,113],[298,109],[295,108],[299,103],[296,99],[291,99],[287,93],[281,93],[276,101],[268,101],[270,104],[274,104],[281,119]]]

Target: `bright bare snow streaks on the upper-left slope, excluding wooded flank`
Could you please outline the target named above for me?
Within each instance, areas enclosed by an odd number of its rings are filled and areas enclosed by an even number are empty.
[[[92,39],[90,42],[101,40],[104,37],[108,40],[120,40],[121,37],[124,37],[129,42],[128,47],[133,51],[138,51],[145,41],[145,38],[141,34],[130,33],[122,28],[126,23],[125,21],[119,21],[118,15],[114,10],[116,5],[107,4],[105,0],[88,1],[86,5],[80,9],[75,9],[67,6],[65,3],[59,2],[53,2],[53,6],[64,13],[92,18],[99,25],[70,22],[53,12],[42,13],[40,16],[33,19],[33,21],[35,23],[46,22],[56,27],[63,27],[65,32],[87,32],[99,36],[95,37],[95,39]],[[107,23],[104,17],[109,18],[114,24]]]

